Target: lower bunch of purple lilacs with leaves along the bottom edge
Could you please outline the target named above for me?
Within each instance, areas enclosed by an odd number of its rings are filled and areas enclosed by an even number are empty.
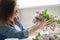
[[[57,34],[49,34],[49,35],[43,35],[41,36],[40,33],[38,33],[35,38],[32,38],[32,40],[60,40],[60,37],[58,37]]]

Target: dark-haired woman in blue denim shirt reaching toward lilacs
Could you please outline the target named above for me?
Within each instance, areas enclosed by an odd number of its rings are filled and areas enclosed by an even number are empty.
[[[6,38],[27,38],[42,26],[46,26],[49,21],[37,22],[36,25],[29,29],[24,29],[19,17],[17,16],[16,0],[1,0],[0,1],[0,40]],[[15,26],[19,27],[17,30]]]

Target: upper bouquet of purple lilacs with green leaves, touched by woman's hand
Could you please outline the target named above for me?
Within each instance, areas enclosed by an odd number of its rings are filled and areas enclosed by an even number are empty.
[[[51,20],[51,24],[47,25],[47,27],[50,27],[51,30],[54,30],[57,26],[60,26],[60,19],[57,16],[54,15],[50,15],[47,13],[47,9],[43,10],[41,13],[39,11],[36,12],[38,15],[36,17],[34,17],[33,19],[33,23],[37,23],[39,21],[44,21],[44,18],[46,20]]]

